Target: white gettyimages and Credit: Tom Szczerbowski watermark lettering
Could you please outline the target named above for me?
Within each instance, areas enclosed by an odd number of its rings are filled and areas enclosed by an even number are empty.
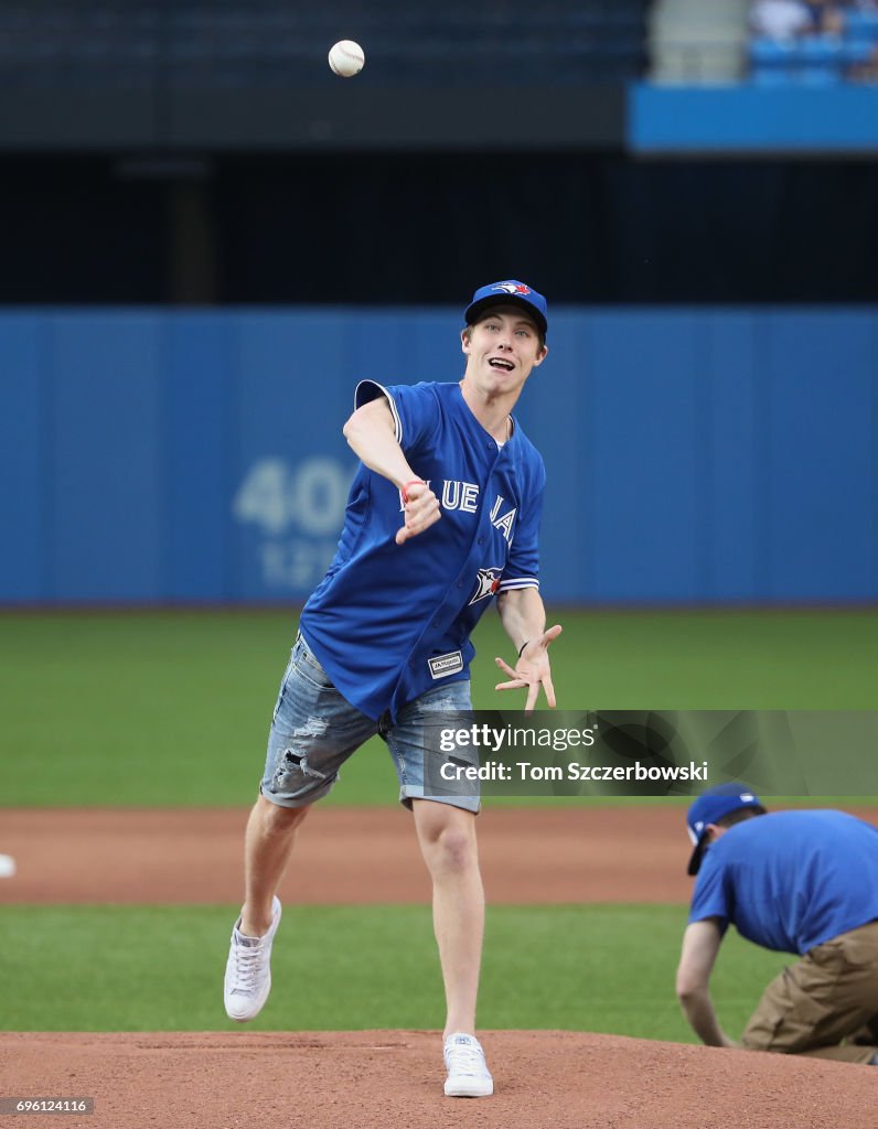
[[[539,728],[505,725],[502,728],[473,723],[463,727],[440,729],[438,747],[450,754],[440,765],[438,776],[443,781],[501,781],[534,782],[546,781],[625,781],[625,782],[703,782],[709,780],[707,761],[688,764],[658,764],[635,760],[631,764],[585,763],[581,756],[572,756],[563,763],[546,763],[540,760],[514,760],[511,754],[518,750],[539,750],[553,753],[571,753],[573,750],[592,750],[598,744],[599,726],[584,728]],[[459,754],[472,751],[479,763]],[[485,755],[485,753],[489,755]],[[458,754],[458,755],[455,755]],[[492,755],[494,754],[494,759]],[[502,754],[502,756],[497,756]],[[521,755],[521,754],[519,754]]]

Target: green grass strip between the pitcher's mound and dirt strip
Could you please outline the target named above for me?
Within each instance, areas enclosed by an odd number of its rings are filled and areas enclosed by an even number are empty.
[[[8,1031],[240,1030],[221,981],[235,910],[7,907]],[[673,995],[683,907],[489,910],[481,1027],[693,1041]],[[739,1032],[783,959],[729,936],[712,989]],[[444,1004],[423,905],[288,907],[271,998],[250,1030],[435,1029]]]

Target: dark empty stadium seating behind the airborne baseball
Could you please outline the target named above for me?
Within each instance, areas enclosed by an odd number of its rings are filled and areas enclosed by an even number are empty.
[[[393,86],[624,81],[649,0],[6,0],[0,87],[264,87],[333,81],[339,38]],[[371,76],[375,75],[375,78]]]

